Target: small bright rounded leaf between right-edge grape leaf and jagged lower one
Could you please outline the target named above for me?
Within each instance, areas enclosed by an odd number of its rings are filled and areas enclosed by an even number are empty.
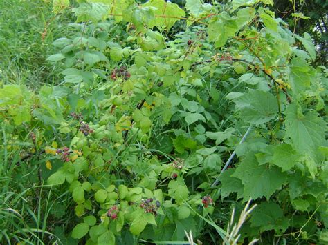
[[[282,172],[290,170],[300,161],[300,155],[289,144],[280,144],[273,152],[272,163],[282,168]]]

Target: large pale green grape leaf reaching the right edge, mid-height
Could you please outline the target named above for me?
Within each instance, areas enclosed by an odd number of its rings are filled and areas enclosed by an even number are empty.
[[[314,160],[320,159],[318,148],[325,141],[327,126],[316,112],[310,111],[303,115],[297,105],[291,104],[286,110],[285,125],[285,139],[291,139],[298,153]]]

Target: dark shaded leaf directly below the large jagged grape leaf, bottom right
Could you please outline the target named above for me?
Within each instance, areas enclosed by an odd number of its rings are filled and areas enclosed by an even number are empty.
[[[289,219],[284,217],[280,206],[274,202],[264,202],[259,204],[250,215],[252,227],[259,228],[259,231],[280,231],[284,232],[289,226]]]

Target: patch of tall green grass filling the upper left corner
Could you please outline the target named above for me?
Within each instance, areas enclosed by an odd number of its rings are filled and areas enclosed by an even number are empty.
[[[51,43],[69,32],[70,14],[58,17],[42,0],[0,0],[0,83],[37,88],[57,81],[46,57]],[[46,32],[44,32],[46,28]]]

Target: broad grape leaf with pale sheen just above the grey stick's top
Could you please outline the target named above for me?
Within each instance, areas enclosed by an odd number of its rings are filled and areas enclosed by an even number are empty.
[[[250,90],[233,101],[239,117],[250,124],[264,124],[277,116],[277,99],[270,92]]]

